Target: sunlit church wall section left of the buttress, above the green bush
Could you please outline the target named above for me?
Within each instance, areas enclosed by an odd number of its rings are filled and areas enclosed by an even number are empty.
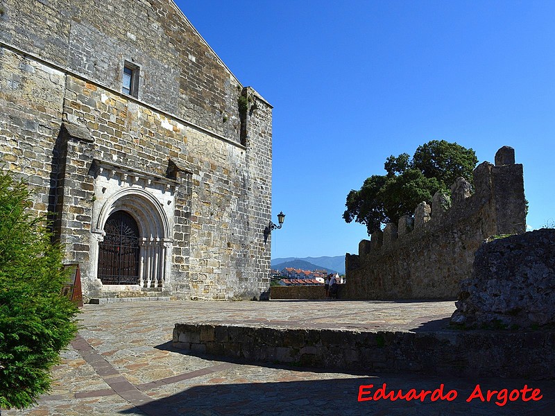
[[[64,89],[62,71],[0,47],[0,166],[37,191],[35,214],[46,214],[51,202]]]

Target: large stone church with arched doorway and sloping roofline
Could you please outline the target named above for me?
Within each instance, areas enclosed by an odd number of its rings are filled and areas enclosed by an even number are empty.
[[[271,139],[271,105],[173,1],[0,1],[0,166],[85,300],[267,291]]]

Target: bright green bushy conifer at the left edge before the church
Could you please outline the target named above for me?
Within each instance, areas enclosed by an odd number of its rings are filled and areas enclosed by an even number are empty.
[[[25,408],[49,390],[50,368],[77,331],[60,295],[62,251],[45,218],[28,212],[24,182],[0,172],[0,408]]]

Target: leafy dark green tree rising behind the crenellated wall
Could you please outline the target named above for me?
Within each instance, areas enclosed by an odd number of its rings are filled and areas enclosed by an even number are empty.
[[[445,140],[418,146],[412,158],[391,155],[384,163],[386,175],[372,175],[348,193],[343,219],[366,225],[372,234],[384,223],[413,214],[420,202],[431,203],[436,191],[449,191],[457,177],[472,183],[477,162],[474,150]]]

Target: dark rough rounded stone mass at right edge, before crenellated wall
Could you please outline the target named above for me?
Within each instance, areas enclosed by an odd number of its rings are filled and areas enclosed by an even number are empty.
[[[555,229],[482,244],[455,305],[452,322],[469,327],[555,324]]]

